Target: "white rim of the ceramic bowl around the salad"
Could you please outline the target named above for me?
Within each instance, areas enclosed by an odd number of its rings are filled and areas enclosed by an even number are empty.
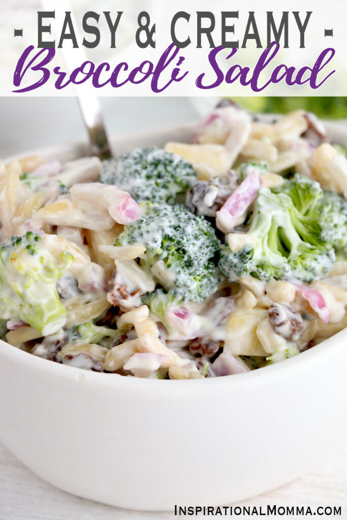
[[[148,139],[151,136],[153,138],[155,136],[162,137],[165,133],[173,133],[179,131],[190,131],[192,127],[196,124],[196,121],[192,121],[189,123],[184,123],[181,125],[165,125],[159,128],[152,128],[150,131],[142,131],[138,133],[128,133],[124,135],[118,135],[111,137],[112,145],[117,145],[117,143],[126,143],[128,140],[141,140]],[[346,129],[347,126],[344,122],[329,122],[330,127],[334,127],[337,131],[341,131],[344,134],[344,137],[347,137]],[[12,155],[8,158],[5,158],[4,161],[11,161],[14,159],[20,159],[22,157],[26,157],[28,155],[43,155],[44,157],[50,158],[56,155],[62,155],[66,153],[88,153],[88,141],[73,141],[67,142],[63,144],[59,144],[57,146],[44,147],[39,149],[30,150],[29,152],[20,152],[18,154]],[[250,370],[247,372],[242,372],[238,374],[225,375],[214,378],[204,378],[195,379],[194,382],[192,380],[162,380],[162,381],[171,381],[171,383],[164,383],[161,385],[160,390],[166,389],[168,391],[169,388],[172,389],[172,385],[175,385],[175,391],[181,389],[182,396],[186,395],[186,388],[189,385],[189,389],[199,389],[201,391],[202,388],[210,388],[210,386],[224,387],[224,386],[238,386],[242,383],[258,382],[261,383],[267,379],[278,378],[282,374],[282,372],[286,372],[287,375],[290,375],[291,372],[302,372],[310,367],[314,366],[315,363],[320,363],[324,361],[328,361],[332,356],[336,356],[339,353],[339,350],[342,350],[344,343],[347,343],[347,327],[339,331],[338,333],[330,336],[326,340],[322,341],[318,345],[315,345],[312,348],[301,352],[297,356],[293,356],[291,358],[282,360],[278,363],[274,363],[273,365],[268,365],[266,367],[262,367],[261,369]],[[54,361],[50,361],[45,358],[41,358],[25,352],[24,350],[19,349],[18,347],[11,345],[7,342],[0,340],[0,358],[5,355],[9,359],[16,360],[25,365],[33,366],[33,368],[44,370],[48,373],[52,373],[52,375],[57,375],[59,378],[68,378],[75,379],[76,381],[83,381],[85,384],[93,384],[97,386],[107,385],[108,387],[122,387],[126,384],[126,390],[136,390],[137,389],[158,389],[158,379],[148,379],[148,378],[136,378],[134,376],[126,377],[120,374],[112,374],[105,372],[93,372],[91,370],[85,370],[82,368],[71,367],[68,365],[62,365],[62,363],[56,363]],[[112,377],[110,377],[110,375]],[[131,379],[133,382],[131,385],[125,383]],[[167,395],[170,396],[171,393],[167,392]]]

